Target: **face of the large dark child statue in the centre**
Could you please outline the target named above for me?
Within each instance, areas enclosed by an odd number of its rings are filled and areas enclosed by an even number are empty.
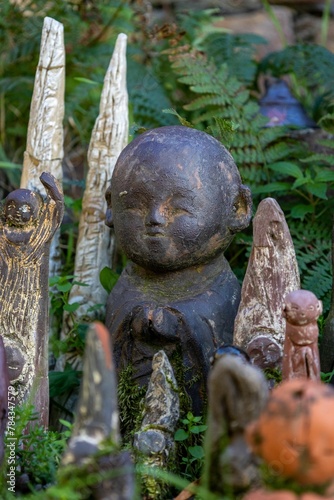
[[[230,241],[220,192],[181,165],[133,168],[111,192],[116,238],[127,257],[147,269],[206,262]]]

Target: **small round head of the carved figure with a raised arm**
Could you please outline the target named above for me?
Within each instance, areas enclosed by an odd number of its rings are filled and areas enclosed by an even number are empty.
[[[8,224],[23,227],[34,223],[41,208],[41,198],[29,189],[12,191],[4,203],[4,216]]]

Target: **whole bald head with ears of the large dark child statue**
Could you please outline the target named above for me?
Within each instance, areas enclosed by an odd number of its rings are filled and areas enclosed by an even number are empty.
[[[247,227],[251,195],[234,160],[210,135],[161,127],[120,154],[106,223],[126,256],[156,272],[209,262]]]

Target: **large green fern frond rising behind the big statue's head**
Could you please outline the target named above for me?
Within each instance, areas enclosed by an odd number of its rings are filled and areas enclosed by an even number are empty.
[[[264,128],[266,118],[259,114],[258,104],[226,62],[216,66],[205,53],[189,47],[171,49],[169,54],[178,81],[190,91],[190,102],[183,106],[190,114],[185,118],[224,142],[245,181],[248,168],[291,156],[295,142],[283,127]]]

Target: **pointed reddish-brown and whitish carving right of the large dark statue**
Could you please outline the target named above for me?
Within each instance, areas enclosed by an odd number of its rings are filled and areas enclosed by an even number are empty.
[[[298,288],[298,264],[284,214],[276,200],[265,198],[253,220],[253,245],[233,340],[261,368],[281,365],[285,336],[283,301]]]

